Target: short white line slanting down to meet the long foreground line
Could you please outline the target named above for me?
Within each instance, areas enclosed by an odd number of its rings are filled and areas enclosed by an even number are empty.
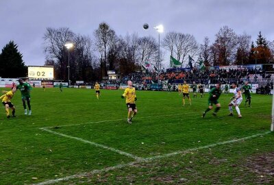
[[[116,152],[116,153],[119,153],[119,154],[121,154],[121,155],[123,155],[123,156],[127,156],[127,157],[129,157],[129,158],[134,158],[134,160],[143,160],[143,158],[139,158],[139,157],[137,157],[137,156],[134,156],[134,155],[132,155],[132,154],[130,154],[130,153],[127,153],[127,152],[125,152],[125,151],[121,151],[121,150],[119,150],[119,149],[114,149],[114,148],[112,148],[112,147],[107,147],[107,146],[105,146],[105,145],[101,145],[101,144],[99,144],[99,143],[94,143],[94,142],[91,142],[91,141],[89,141],[89,140],[84,140],[84,139],[82,139],[82,138],[77,138],[77,137],[74,137],[74,136],[69,136],[69,135],[66,135],[66,134],[61,134],[61,133],[58,133],[58,132],[54,132],[54,131],[52,131],[52,130],[48,130],[47,128],[40,128],[40,130],[45,130],[46,132],[50,132],[51,134],[56,134],[56,135],[58,135],[58,136],[63,136],[63,137],[66,137],[66,138],[71,138],[71,139],[75,139],[75,140],[79,140],[79,141],[81,141],[81,142],[83,142],[83,143],[88,143],[88,144],[90,144],[90,145],[94,145],[95,147],[100,147],[100,148],[103,148],[103,149],[108,149],[108,150],[110,150],[110,151],[114,151],[114,152]]]

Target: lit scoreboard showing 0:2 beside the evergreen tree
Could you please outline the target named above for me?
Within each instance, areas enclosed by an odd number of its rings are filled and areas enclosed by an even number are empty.
[[[53,79],[53,66],[28,66],[27,74],[29,78]]]

